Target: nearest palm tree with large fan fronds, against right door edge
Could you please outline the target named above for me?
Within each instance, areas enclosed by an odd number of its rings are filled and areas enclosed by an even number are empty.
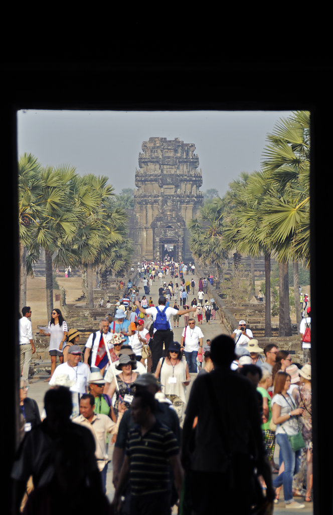
[[[263,152],[263,167],[269,175],[270,198],[264,202],[263,230],[270,229],[270,237],[278,253],[278,260],[294,263],[294,296],[297,306],[297,321],[300,321],[299,292],[297,279],[298,261],[310,265],[309,224],[309,171],[310,171],[310,114],[294,112],[281,118],[273,133],[267,136],[269,144]],[[284,270],[284,287],[287,288],[287,272]],[[297,281],[297,283],[295,283]],[[289,291],[289,288],[288,288]],[[280,295],[280,303],[289,303],[287,291]],[[291,334],[288,307],[284,311],[281,330]],[[298,323],[299,325],[299,323]]]

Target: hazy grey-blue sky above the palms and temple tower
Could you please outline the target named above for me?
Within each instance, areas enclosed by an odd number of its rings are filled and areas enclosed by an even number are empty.
[[[143,141],[151,136],[194,143],[202,191],[220,195],[242,171],[260,169],[267,133],[290,111],[18,111],[18,156],[70,164],[80,175],[110,178],[116,193],[135,187]]]

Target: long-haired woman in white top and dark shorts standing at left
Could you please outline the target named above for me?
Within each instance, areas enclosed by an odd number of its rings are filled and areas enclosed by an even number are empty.
[[[50,337],[49,355],[51,356],[51,375],[45,382],[50,381],[52,374],[57,365],[57,356],[59,356],[60,363],[64,361],[63,345],[67,336],[67,323],[62,316],[62,313],[58,308],[54,308],[51,313],[51,320],[48,324],[48,333],[45,333],[42,329],[42,334]]]

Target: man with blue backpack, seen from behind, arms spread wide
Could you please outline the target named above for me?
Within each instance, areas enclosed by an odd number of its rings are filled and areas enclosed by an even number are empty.
[[[186,315],[187,313],[191,313],[192,311],[196,311],[195,307],[190,307],[188,310],[176,310],[174,307],[167,307],[165,303],[167,299],[165,297],[160,297],[158,299],[157,307],[149,307],[144,309],[138,301],[136,301],[136,305],[145,315],[151,315],[153,317],[154,323],[154,334],[152,343],[150,343],[150,348],[152,351],[152,369],[151,372],[154,373],[159,362],[159,359],[163,355],[163,344],[165,349],[168,349],[169,345],[173,341],[173,332],[170,324],[170,317],[174,315]]]

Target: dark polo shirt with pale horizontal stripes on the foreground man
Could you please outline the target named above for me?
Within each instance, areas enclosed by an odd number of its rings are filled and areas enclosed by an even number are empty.
[[[132,495],[168,492],[171,488],[169,458],[178,453],[174,433],[158,420],[144,436],[138,425],[130,430],[126,454],[130,458]]]

